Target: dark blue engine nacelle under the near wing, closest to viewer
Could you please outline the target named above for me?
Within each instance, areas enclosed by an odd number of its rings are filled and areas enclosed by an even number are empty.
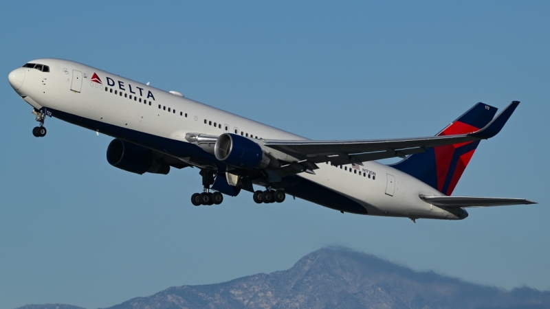
[[[278,161],[264,152],[259,144],[232,133],[224,133],[218,137],[214,155],[219,161],[247,170],[278,168],[279,165]]]

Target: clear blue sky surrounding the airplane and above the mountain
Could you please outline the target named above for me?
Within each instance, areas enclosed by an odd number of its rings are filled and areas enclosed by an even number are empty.
[[[341,1],[340,1],[341,2]],[[550,290],[546,1],[6,1],[0,5],[0,308],[107,307],[169,286],[291,267],[341,244],[418,270]],[[476,102],[522,104],[454,195],[538,205],[459,222],[340,214],[251,194],[190,206],[197,169],[111,167],[111,138],[47,119],[8,84],[28,60],[83,62],[311,139],[437,133]]]

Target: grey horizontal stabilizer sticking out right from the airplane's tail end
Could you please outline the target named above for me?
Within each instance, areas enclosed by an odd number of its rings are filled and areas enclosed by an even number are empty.
[[[507,206],[507,205],[528,205],[536,202],[526,200],[525,198],[484,198],[474,196],[418,196],[422,201],[449,208],[460,207],[489,207],[489,206]]]

